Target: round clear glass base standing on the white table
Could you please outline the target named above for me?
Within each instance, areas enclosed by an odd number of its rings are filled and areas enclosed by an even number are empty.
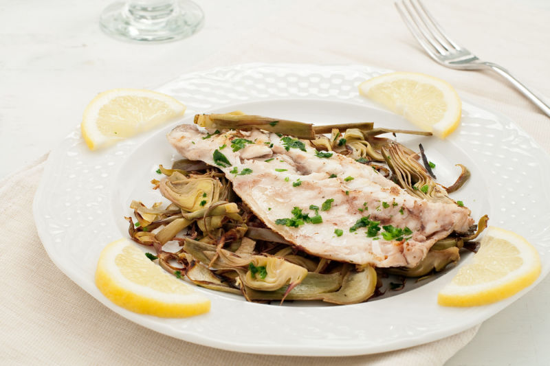
[[[103,32],[126,41],[167,42],[191,36],[204,22],[199,5],[192,1],[165,1],[140,5],[138,1],[112,3],[103,10]]]

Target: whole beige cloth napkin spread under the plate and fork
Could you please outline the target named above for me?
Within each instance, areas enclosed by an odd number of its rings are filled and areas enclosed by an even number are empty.
[[[550,18],[536,1],[426,1],[472,51],[516,71],[550,95]],[[207,14],[208,19],[208,14]],[[486,26],[490,19],[490,27]],[[456,35],[456,36],[455,36]],[[511,43],[511,44],[508,44]],[[542,55],[542,56],[541,56]],[[195,69],[242,62],[355,63],[418,71],[448,80],[462,97],[511,117],[550,150],[550,120],[491,73],[445,69],[419,48],[391,1],[299,1]],[[542,81],[541,81],[542,80]],[[239,354],[142,328],[105,308],[54,266],[36,234],[32,198],[45,157],[0,182],[0,363],[97,365],[441,365],[478,326],[397,352],[347,358]]]

